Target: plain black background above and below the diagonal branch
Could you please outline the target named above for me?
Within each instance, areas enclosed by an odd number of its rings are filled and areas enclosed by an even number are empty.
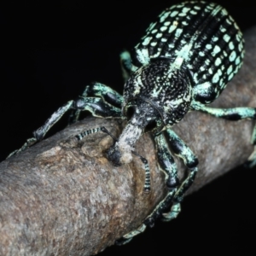
[[[9,1],[3,6],[0,160],[20,148],[51,113],[79,96],[91,81],[121,93],[119,52],[135,46],[149,23],[178,2]],[[215,2],[229,10],[242,31],[256,24],[254,1]],[[49,135],[65,125],[67,117]],[[188,196],[176,220],[158,222],[130,244],[109,247],[102,255],[254,255],[255,171],[239,167],[218,178]]]

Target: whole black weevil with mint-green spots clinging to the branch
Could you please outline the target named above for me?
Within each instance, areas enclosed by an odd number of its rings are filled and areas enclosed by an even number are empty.
[[[131,241],[133,236],[152,227],[157,218],[170,221],[180,212],[183,195],[195,180],[198,160],[183,140],[172,131],[172,126],[189,111],[201,111],[215,117],[239,120],[256,119],[256,108],[209,108],[207,104],[218,98],[226,84],[241,67],[244,40],[235,20],[216,3],[183,2],[164,10],[152,23],[132,55],[120,55],[125,86],[123,96],[105,84],[92,83],[76,101],[59,108],[37,131],[34,137],[16,150],[30,147],[41,140],[50,127],[69,109],[74,112],[70,123],[79,119],[79,113],[89,110],[100,118],[127,121],[119,138],[105,127],[83,131],[78,140],[91,133],[103,131],[113,137],[114,143],[107,158],[115,166],[130,163],[137,155],[145,166],[144,191],[150,191],[148,161],[134,151],[139,137],[151,132],[156,145],[160,169],[166,173],[168,193],[154,211],[137,229],[126,234],[118,244]],[[164,135],[165,133],[165,135]],[[256,144],[256,126],[253,130]],[[181,158],[189,170],[183,182],[177,177],[177,166],[172,153]],[[247,166],[256,165],[256,147]],[[171,211],[163,213],[171,207]]]

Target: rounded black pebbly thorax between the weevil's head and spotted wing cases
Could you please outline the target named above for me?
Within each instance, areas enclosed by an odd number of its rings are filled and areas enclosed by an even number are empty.
[[[187,70],[173,67],[170,59],[155,59],[141,67],[125,84],[125,105],[143,98],[159,109],[166,125],[176,124],[189,111],[192,79]]]

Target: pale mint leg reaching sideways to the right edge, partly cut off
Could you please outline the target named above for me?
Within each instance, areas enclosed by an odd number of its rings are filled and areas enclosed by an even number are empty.
[[[256,108],[208,108],[199,102],[193,102],[192,108],[204,113],[210,113],[218,118],[229,119],[232,121],[241,119],[256,119]],[[251,143],[254,145],[254,150],[245,163],[245,166],[249,168],[256,166],[256,125],[253,129]]]

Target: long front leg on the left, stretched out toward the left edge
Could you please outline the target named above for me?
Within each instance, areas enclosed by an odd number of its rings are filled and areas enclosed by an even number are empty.
[[[38,130],[33,132],[32,138],[26,140],[26,143],[20,148],[9,154],[7,158],[13,154],[17,154],[26,148],[32,146],[32,144],[37,143],[42,140],[49,129],[55,125],[55,123],[61,119],[62,115],[69,109],[79,109],[80,111],[88,110],[93,116],[102,118],[122,118],[121,110],[119,108],[113,107],[108,102],[105,102],[102,98],[96,97],[80,97],[77,101],[67,102],[64,106],[59,108],[55,113],[53,113],[49,119],[46,120],[44,125],[38,128]]]

